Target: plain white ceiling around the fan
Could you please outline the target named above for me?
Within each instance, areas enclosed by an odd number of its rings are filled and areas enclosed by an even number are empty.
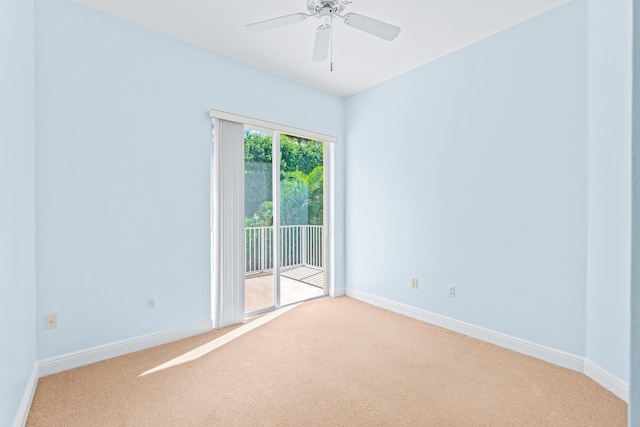
[[[307,12],[306,0],[75,0],[341,97],[375,86],[570,0],[359,0],[354,12],[402,28],[388,42],[333,25],[333,72],[312,62],[316,19],[259,34],[246,24]]]

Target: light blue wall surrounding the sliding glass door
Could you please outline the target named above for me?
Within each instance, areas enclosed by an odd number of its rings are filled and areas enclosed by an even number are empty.
[[[69,0],[35,23],[38,357],[210,319],[209,109],[342,140],[344,101]]]

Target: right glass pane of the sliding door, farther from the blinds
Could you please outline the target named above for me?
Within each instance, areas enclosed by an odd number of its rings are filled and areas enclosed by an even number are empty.
[[[325,295],[324,144],[280,135],[280,304]]]

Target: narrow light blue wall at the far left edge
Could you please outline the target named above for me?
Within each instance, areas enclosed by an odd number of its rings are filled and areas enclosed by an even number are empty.
[[[10,426],[36,361],[32,1],[0,1],[0,52],[0,425]]]

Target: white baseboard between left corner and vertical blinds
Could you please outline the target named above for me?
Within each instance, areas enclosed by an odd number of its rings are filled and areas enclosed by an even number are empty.
[[[41,360],[38,362],[40,377],[46,377],[47,375],[53,375],[69,369],[79,368],[80,366],[90,365],[112,357],[133,353],[135,351],[146,350],[172,341],[203,334],[211,331],[212,329],[212,320],[203,320],[202,322],[193,323],[180,328],[142,335]]]

